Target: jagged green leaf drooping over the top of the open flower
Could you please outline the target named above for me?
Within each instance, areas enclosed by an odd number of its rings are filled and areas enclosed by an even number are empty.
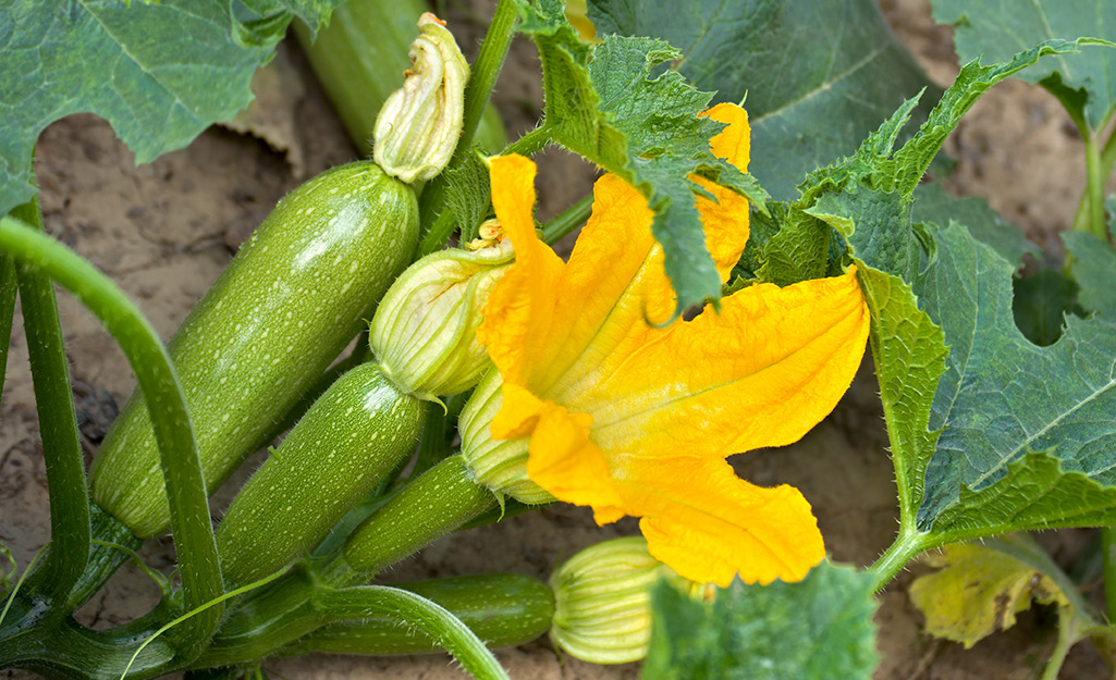
[[[723,124],[699,117],[712,93],[674,71],[652,74],[681,54],[662,40],[606,37],[591,51],[566,20],[560,0],[521,4],[519,30],[535,40],[546,91],[543,126],[551,139],[627,179],[655,212],[677,311],[720,297],[721,280],[705,249],[694,195],[698,173],[747,196],[761,211],[767,193],[748,174],[716,158],[709,139]]]

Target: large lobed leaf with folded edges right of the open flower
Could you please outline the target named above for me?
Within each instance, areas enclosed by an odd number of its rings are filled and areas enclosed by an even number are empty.
[[[939,205],[922,214],[981,222],[974,231],[994,246],[955,223],[921,233],[911,220],[918,179],[977,98],[1040,56],[1075,48],[1054,41],[1008,62],[966,65],[901,149],[892,152],[910,101],[853,157],[812,173],[769,241],[770,255],[781,239],[820,223],[863,265],[903,531],[934,534],[923,543],[1116,519],[1116,327],[1071,319],[1054,347],[1031,344],[1011,305],[1026,242],[982,211]],[[920,239],[930,239],[924,253]],[[930,265],[920,274],[923,258]]]

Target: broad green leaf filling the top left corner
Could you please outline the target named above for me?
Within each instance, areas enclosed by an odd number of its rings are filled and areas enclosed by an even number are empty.
[[[35,194],[45,127],[90,111],[147,163],[251,100],[291,17],[341,0],[13,0],[0,11],[0,215]]]

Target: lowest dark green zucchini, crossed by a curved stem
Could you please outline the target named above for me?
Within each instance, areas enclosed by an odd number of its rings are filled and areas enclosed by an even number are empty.
[[[530,642],[550,629],[554,618],[550,587],[523,574],[456,576],[401,583],[396,587],[450,610],[490,648]],[[410,654],[440,650],[421,630],[391,616],[373,615],[327,625],[279,653]]]

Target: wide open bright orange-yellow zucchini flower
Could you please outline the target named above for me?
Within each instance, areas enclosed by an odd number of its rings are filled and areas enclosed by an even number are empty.
[[[747,169],[743,109],[713,153]],[[796,441],[821,420],[860,363],[868,311],[855,271],[787,288],[754,284],[665,328],[675,298],[652,211],[603,176],[569,262],[535,231],[535,164],[491,161],[492,203],[516,247],[478,329],[503,376],[497,439],[530,437],[527,472],[599,524],[625,515],[652,555],[691,581],[798,580],[825,556],[810,506],[790,486],[735,476],[725,457]],[[702,178],[705,243],[724,280],[748,240],[748,202]]]

